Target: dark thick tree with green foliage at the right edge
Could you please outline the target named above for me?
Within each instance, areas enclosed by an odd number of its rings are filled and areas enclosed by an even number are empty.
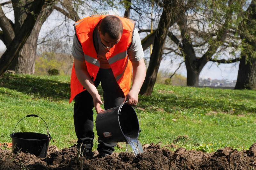
[[[237,32],[242,52],[235,89],[256,89],[256,1],[252,0]]]

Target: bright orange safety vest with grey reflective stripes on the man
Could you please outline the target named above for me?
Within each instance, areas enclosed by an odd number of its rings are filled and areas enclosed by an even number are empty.
[[[93,30],[100,20],[106,16],[107,15],[90,16],[74,24],[77,39],[80,41],[83,48],[86,69],[93,81],[95,81],[100,69],[100,61],[98,60],[98,55],[93,45]],[[124,96],[126,96],[130,91],[132,79],[132,63],[128,58],[127,48],[129,48],[132,43],[135,23],[127,18],[118,18],[121,19],[123,23],[123,34],[121,40],[110,48],[109,52],[106,54],[106,58],[116,78],[117,84],[124,92]],[[69,103],[77,94],[86,90],[76,77],[74,64],[71,72],[70,89],[71,97]]]

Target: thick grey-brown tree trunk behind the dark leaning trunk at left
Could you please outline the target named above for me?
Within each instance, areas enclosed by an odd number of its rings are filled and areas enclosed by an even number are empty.
[[[2,5],[0,6],[0,14],[2,18],[0,19],[0,27],[3,30],[3,38],[1,38],[1,40],[4,42],[6,47],[10,45],[14,36],[19,34],[21,26],[23,26],[24,21],[29,14],[28,9],[33,1],[12,0],[10,3],[12,3],[14,11],[14,23],[12,23],[12,21],[5,16],[2,10]],[[44,21],[52,13],[53,6],[54,1],[46,3],[42,6],[42,10],[38,15],[40,17],[36,19],[36,23],[29,34],[27,41],[19,53],[14,57],[12,65],[8,68],[9,70],[14,70],[17,74],[31,74],[34,72],[38,34]]]

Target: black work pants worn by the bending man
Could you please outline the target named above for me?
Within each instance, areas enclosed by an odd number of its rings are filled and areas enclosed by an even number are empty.
[[[111,69],[100,69],[95,79],[97,87],[101,82],[103,90],[104,108],[105,110],[112,107],[120,106],[124,100],[124,93],[116,82]],[[77,144],[83,143],[83,148],[89,152],[93,146],[93,100],[91,94],[85,90],[76,95],[74,104],[74,124]],[[98,151],[112,154],[116,143],[104,143],[98,138]]]

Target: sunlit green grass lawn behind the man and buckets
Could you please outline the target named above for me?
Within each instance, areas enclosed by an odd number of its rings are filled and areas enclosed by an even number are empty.
[[[0,78],[0,143],[11,142],[18,121],[29,114],[48,124],[52,144],[59,148],[76,143],[73,102],[69,100],[69,77],[5,75]],[[99,92],[102,90],[99,87]],[[140,142],[173,143],[205,152],[231,146],[248,149],[256,142],[256,91],[155,85],[151,96],[140,96]],[[94,111],[94,120],[96,112]],[[45,124],[25,118],[18,131],[46,134]],[[93,150],[97,149],[97,133]],[[121,143],[121,146],[125,146]],[[116,151],[125,149],[116,148]]]

